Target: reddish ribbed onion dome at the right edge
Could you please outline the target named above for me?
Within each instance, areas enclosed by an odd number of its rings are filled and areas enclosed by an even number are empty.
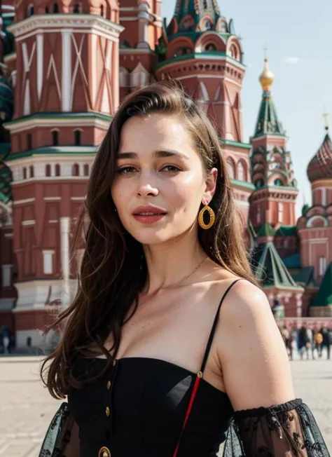
[[[317,179],[332,179],[332,142],[328,127],[323,143],[307,165],[307,177],[310,182]]]

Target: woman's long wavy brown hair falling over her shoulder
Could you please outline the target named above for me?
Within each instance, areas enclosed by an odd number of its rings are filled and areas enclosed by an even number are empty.
[[[137,310],[139,292],[146,284],[148,273],[143,247],[120,223],[110,189],[125,121],[156,112],[178,116],[191,133],[206,172],[214,167],[218,169],[216,191],[209,203],[216,220],[209,230],[199,228],[202,249],[216,264],[256,282],[247,259],[240,216],[233,203],[226,161],[207,116],[179,85],[170,81],[154,83],[130,94],[118,109],[99,148],[85,205],[76,224],[73,252],[87,225],[78,291],[73,303],[51,327],[61,324],[63,335],[41,368],[43,381],[55,398],[63,398],[71,388],[78,387],[72,367],[77,357],[86,354],[89,348],[97,347],[99,353],[106,355],[108,363],[103,373],[108,369],[118,353],[121,329]],[[104,341],[109,334],[113,346],[108,351]]]

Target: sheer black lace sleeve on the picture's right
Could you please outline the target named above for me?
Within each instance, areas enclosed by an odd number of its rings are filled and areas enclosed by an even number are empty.
[[[302,400],[237,411],[223,457],[330,457],[310,409]]]

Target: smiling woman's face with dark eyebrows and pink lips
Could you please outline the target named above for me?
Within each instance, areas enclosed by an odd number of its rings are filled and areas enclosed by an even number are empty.
[[[125,229],[144,245],[163,243],[197,224],[216,186],[177,116],[134,116],[123,125],[111,196]]]

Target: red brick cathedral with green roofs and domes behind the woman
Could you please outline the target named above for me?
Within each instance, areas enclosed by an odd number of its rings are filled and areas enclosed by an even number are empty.
[[[77,287],[71,234],[98,145],[125,95],[176,79],[216,128],[256,277],[286,318],[332,318],[332,143],[307,166],[312,203],[296,219],[296,173],[268,60],[244,139],[246,66],[216,0],[4,0],[0,39],[0,327],[37,347]]]

